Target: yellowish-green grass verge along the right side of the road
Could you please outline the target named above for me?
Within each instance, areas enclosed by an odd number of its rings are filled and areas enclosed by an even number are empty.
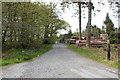
[[[99,48],[88,48],[88,47],[78,47],[76,45],[68,45],[67,47],[76,53],[79,53],[87,58],[94,61],[107,64],[110,67],[120,69],[120,60],[106,60],[106,52]],[[113,53],[111,53],[113,54]]]

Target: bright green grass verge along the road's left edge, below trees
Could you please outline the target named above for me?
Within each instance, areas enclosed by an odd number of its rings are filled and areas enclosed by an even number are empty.
[[[21,63],[32,60],[33,58],[44,54],[52,48],[52,45],[42,45],[40,49],[36,50],[23,50],[23,49],[11,49],[4,52],[5,57],[0,59],[2,64],[0,66]]]

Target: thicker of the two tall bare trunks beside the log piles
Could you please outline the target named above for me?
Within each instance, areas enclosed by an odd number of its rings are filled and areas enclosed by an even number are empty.
[[[91,12],[92,12],[92,4],[91,0],[88,2],[88,25],[87,25],[87,40],[86,46],[90,47],[90,38],[91,38]]]

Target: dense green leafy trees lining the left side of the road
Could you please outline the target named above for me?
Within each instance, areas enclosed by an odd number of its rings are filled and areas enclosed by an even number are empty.
[[[3,50],[37,48],[58,30],[69,27],[59,19],[52,3],[6,2],[2,9]]]

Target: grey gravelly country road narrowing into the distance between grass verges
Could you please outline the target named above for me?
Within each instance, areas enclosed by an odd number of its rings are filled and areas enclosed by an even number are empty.
[[[53,45],[31,62],[3,68],[3,78],[118,78],[117,69],[106,67],[69,50]]]

